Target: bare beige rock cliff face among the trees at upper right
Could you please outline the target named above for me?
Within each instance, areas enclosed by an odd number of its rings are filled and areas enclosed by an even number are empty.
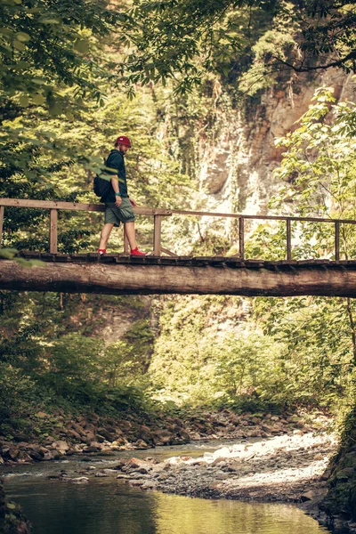
[[[337,101],[355,101],[351,75],[340,69],[293,75],[284,90],[271,89],[247,109],[223,100],[217,104],[214,140],[198,138],[200,198],[219,212],[266,214],[269,198],[279,189],[272,176],[279,165],[277,138],[295,127],[312,103],[317,87],[333,87]]]

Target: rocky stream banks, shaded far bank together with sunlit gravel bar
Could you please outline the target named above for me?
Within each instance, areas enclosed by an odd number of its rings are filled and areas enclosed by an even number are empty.
[[[87,467],[73,475],[65,470],[53,474],[63,482],[86,484],[93,477],[113,477],[142,490],[159,490],[182,496],[239,499],[260,502],[292,502],[316,515],[328,491],[328,462],[336,452],[336,440],[326,432],[328,417],[271,413],[235,414],[224,409],[190,417],[66,418],[53,421],[37,412],[41,439],[1,439],[3,465],[83,457]],[[51,429],[51,435],[48,431]],[[106,469],[91,465],[95,457],[114,456],[157,446],[182,445],[190,441],[225,441],[202,456],[131,457]],[[140,454],[142,457],[142,453]],[[320,521],[320,517],[317,517]],[[320,521],[322,522],[322,521]],[[323,523],[325,526],[327,522]]]

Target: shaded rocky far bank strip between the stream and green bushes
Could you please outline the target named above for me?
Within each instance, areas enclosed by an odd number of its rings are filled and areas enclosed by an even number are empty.
[[[285,433],[317,432],[328,417],[316,414],[242,413],[224,409],[184,418],[164,414],[121,413],[68,417],[38,411],[26,434],[10,429],[0,434],[0,464],[55,460],[72,455],[107,454],[126,449],[150,449],[189,441],[268,439]]]

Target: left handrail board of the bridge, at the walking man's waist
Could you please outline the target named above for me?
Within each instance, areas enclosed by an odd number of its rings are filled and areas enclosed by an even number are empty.
[[[65,209],[69,211],[103,212],[103,204],[83,204],[79,202],[53,202],[52,200],[31,200],[27,198],[0,198],[0,206],[35,207],[39,209]],[[169,209],[134,207],[134,213],[140,215],[172,215]]]

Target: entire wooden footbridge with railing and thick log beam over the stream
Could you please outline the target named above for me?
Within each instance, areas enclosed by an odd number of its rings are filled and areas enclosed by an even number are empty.
[[[356,296],[356,260],[340,254],[342,225],[353,220],[316,217],[221,214],[136,207],[138,215],[153,217],[153,254],[145,257],[128,254],[124,239],[123,254],[100,256],[58,253],[58,211],[103,212],[104,206],[47,200],[0,198],[0,244],[6,208],[49,210],[49,252],[21,251],[27,259],[43,263],[24,267],[0,259],[0,289],[61,291],[67,293],[125,294],[215,294],[248,296]],[[162,245],[162,219],[172,214],[233,218],[239,222],[239,253],[233,256],[182,256]],[[250,220],[279,221],[286,224],[284,257],[279,261],[248,259],[245,255],[245,223]],[[330,258],[293,259],[292,223],[327,223],[334,229],[334,254]]]

